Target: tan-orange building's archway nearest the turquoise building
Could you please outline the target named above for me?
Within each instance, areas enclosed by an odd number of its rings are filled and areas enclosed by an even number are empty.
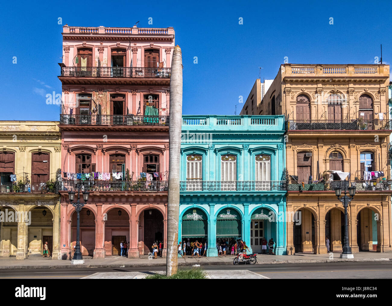
[[[317,253],[314,215],[307,208],[298,210],[301,222],[293,223],[294,249],[296,253]]]

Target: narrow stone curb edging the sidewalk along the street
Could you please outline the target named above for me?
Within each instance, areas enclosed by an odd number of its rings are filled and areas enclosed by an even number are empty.
[[[338,262],[369,262],[369,261],[392,261],[392,258],[362,258],[362,259],[314,259],[314,260],[269,260],[259,261],[257,264],[298,264],[298,263],[338,263]],[[216,266],[216,265],[232,265],[232,261],[208,261],[193,263],[178,263],[178,266]],[[80,264],[80,265],[32,265],[32,266],[0,266],[0,270],[12,269],[64,269],[64,268],[131,268],[131,267],[154,267],[165,266],[165,264]]]

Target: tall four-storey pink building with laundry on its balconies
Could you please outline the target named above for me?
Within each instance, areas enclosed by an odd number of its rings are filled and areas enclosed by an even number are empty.
[[[128,257],[138,257],[163,240],[164,256],[174,30],[65,25],[62,35],[62,258],[76,244],[68,190],[78,188],[90,192],[83,255],[120,255],[127,241]]]

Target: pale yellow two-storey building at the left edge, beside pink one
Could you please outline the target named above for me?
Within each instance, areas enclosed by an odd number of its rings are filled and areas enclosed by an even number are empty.
[[[0,121],[0,256],[60,255],[58,121]]]

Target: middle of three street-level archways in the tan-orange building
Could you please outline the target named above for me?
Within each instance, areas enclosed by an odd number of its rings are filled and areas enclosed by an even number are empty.
[[[330,241],[331,252],[342,252],[344,241],[344,213],[332,208],[325,215],[325,237]]]

